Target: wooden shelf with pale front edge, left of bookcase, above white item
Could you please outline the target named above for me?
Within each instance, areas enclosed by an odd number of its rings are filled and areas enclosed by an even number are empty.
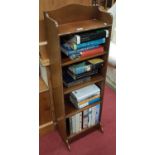
[[[49,55],[47,53],[46,46],[39,47],[39,56],[40,56],[40,62],[41,62],[42,66],[50,65],[50,59],[49,59]]]

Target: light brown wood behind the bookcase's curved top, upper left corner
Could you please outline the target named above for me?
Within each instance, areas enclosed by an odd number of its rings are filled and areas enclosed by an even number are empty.
[[[69,4],[91,5],[91,0],[40,0],[39,1],[39,19],[44,19],[43,12],[56,10]]]

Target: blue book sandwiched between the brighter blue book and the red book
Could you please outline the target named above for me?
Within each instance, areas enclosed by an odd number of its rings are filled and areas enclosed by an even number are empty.
[[[97,48],[99,45],[91,45],[89,47],[83,47],[81,49],[77,49],[77,50],[73,50],[70,46],[70,44],[68,43],[65,43],[65,44],[62,44],[61,45],[61,51],[67,55],[67,56],[72,56],[72,55],[77,55],[79,56],[80,55],[80,52],[83,52],[83,51],[86,51],[86,50],[90,50],[90,49],[93,49],[93,48]]]

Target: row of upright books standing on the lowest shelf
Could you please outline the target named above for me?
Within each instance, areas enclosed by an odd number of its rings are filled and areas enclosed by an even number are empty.
[[[89,128],[99,122],[100,104],[84,110],[69,118],[70,134],[76,134],[82,129]]]

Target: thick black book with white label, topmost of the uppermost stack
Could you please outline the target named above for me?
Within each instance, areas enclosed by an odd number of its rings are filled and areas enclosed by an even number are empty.
[[[100,29],[100,30],[94,30],[91,32],[85,32],[85,33],[74,35],[70,38],[70,41],[76,44],[81,44],[91,40],[108,38],[108,37],[109,37],[109,30]]]

